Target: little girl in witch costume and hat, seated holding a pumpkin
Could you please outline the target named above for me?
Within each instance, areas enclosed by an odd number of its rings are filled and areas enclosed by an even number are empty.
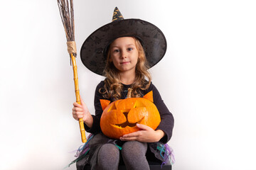
[[[82,98],[81,105],[73,103],[73,118],[82,118],[85,130],[94,135],[90,152],[78,169],[83,169],[85,164],[90,164],[91,169],[118,169],[119,164],[125,164],[127,169],[149,169],[148,162],[161,164],[164,161],[157,147],[171,139],[174,118],[151,83],[147,70],[164,57],[165,51],[166,40],[159,28],[139,19],[124,20],[117,8],[112,23],[102,26],[85,40],[81,48],[83,64],[106,78],[95,91],[95,115],[90,114]],[[132,89],[134,98],[153,91],[161,123],[156,130],[137,124],[139,131],[113,140],[100,129],[100,99],[112,102],[126,98],[128,89]]]

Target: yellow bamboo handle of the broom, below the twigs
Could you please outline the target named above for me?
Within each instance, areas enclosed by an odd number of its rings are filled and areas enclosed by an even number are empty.
[[[81,104],[79,88],[78,88],[78,67],[76,65],[75,57],[74,57],[73,53],[70,54],[70,57],[71,57],[71,60],[72,60],[73,72],[74,72],[75,98],[76,98],[76,102],[78,104]],[[85,143],[85,142],[87,142],[87,140],[86,140],[86,136],[85,136],[85,126],[84,126],[82,118],[79,119],[79,126],[80,126],[82,142]]]

